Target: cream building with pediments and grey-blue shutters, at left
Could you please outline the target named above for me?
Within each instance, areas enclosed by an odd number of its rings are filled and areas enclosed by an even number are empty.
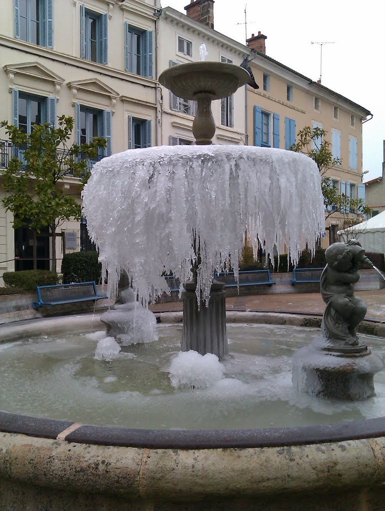
[[[0,119],[29,133],[35,123],[71,115],[72,142],[106,138],[98,159],[158,144],[159,7],[158,0],[3,0]],[[12,148],[4,130],[0,140],[1,173]],[[68,176],[63,185],[79,193],[76,178]],[[84,223],[65,222],[58,230],[66,233],[67,251],[88,248]],[[30,269],[31,257],[31,231],[14,231],[12,215],[0,207],[0,276]],[[57,257],[60,271],[61,238]],[[38,258],[40,268],[49,267],[47,237],[38,237]]]

